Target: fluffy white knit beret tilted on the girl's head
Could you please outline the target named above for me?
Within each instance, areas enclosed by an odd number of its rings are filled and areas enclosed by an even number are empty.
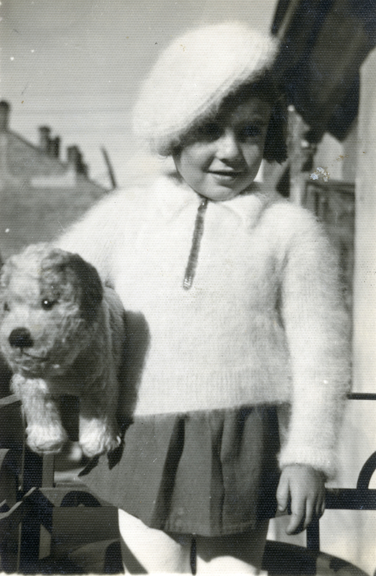
[[[134,108],[134,131],[168,154],[197,120],[272,66],[278,44],[241,22],[202,26],[160,55]]]

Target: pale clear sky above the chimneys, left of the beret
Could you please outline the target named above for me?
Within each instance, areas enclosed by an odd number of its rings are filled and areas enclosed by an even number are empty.
[[[133,169],[131,111],[160,51],[186,29],[228,20],[268,31],[276,0],[1,0],[0,98],[10,128],[38,143],[38,126],[77,144],[90,175],[119,185]],[[137,164],[137,163],[136,163]]]

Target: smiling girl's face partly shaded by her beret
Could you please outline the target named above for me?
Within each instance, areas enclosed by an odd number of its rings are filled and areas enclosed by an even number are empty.
[[[174,155],[186,183],[210,200],[230,200],[245,190],[260,168],[270,110],[253,96],[198,127]]]

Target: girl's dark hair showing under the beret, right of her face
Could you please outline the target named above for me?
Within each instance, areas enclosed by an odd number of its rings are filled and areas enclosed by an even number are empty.
[[[222,106],[235,108],[251,96],[257,96],[272,107],[263,158],[268,162],[276,161],[281,164],[287,159],[287,107],[269,70],[265,70],[260,78],[241,86],[236,92],[227,96]]]

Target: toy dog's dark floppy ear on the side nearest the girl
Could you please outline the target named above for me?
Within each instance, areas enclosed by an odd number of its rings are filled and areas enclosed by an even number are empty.
[[[44,271],[64,274],[81,294],[81,317],[92,322],[103,299],[103,286],[94,266],[78,254],[52,249],[42,260]]]

